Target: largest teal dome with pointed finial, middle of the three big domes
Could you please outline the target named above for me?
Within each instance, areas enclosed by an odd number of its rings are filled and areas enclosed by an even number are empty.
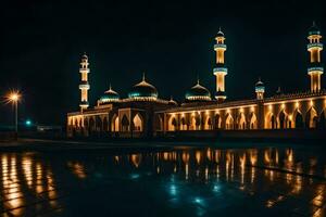
[[[135,85],[128,93],[129,99],[139,101],[153,101],[158,99],[158,90],[154,86],[147,82],[145,76],[142,81]]]

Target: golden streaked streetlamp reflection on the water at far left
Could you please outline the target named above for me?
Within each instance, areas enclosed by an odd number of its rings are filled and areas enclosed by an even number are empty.
[[[51,168],[47,168],[46,171],[42,163],[36,162],[30,153],[23,155],[1,154],[0,157],[0,195],[3,196],[0,205],[3,207],[1,209],[2,215],[30,216],[40,207],[35,206],[37,200],[48,201],[50,207],[58,208],[58,203],[53,201],[57,194],[55,189],[52,187]],[[33,196],[34,200],[32,200]],[[46,206],[46,204],[43,205]]]

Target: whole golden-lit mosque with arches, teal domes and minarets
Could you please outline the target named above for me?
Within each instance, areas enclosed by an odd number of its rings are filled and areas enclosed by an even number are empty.
[[[198,80],[185,94],[183,103],[161,99],[156,88],[146,76],[128,92],[127,98],[113,90],[89,106],[89,61],[84,54],[80,62],[80,110],[67,114],[67,136],[104,136],[109,138],[148,138],[183,133],[203,135],[220,130],[278,130],[326,128],[326,91],[322,89],[322,35],[315,24],[309,29],[306,50],[310,53],[308,75],[310,90],[265,98],[261,79],[254,87],[255,99],[228,101],[225,90],[228,74],[225,64],[226,38],[220,29],[214,51],[216,65],[213,75],[216,89],[212,94]]]

